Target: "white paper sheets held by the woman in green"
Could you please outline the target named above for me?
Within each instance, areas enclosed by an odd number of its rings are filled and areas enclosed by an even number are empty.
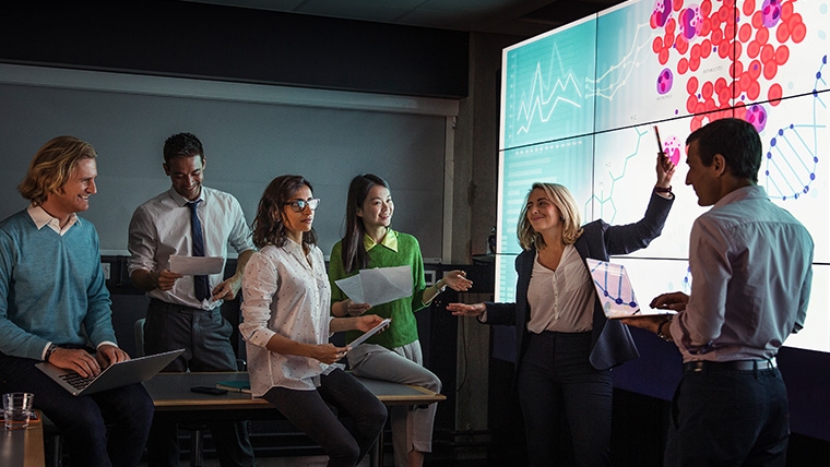
[[[412,296],[410,266],[360,270],[352,277],[334,282],[355,303],[376,304]]]

